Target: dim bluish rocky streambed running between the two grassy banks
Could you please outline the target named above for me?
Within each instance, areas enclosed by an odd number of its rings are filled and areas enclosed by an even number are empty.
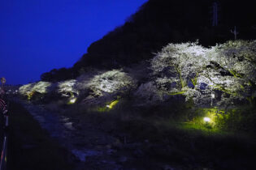
[[[152,147],[147,140],[131,142],[128,135],[112,134],[92,120],[79,120],[79,115],[75,118],[50,113],[42,104],[15,102],[22,104],[52,138],[75,155],[76,169],[181,169],[147,156],[142,151],[145,146]]]

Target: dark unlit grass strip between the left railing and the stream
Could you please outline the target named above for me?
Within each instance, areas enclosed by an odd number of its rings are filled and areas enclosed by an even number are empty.
[[[20,104],[10,104],[7,168],[11,170],[71,170],[72,157],[42,130]]]

